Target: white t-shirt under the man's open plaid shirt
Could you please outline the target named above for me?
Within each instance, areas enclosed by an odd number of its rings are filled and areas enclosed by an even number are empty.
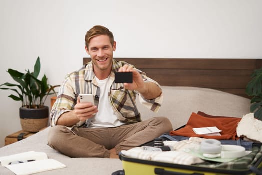
[[[92,117],[88,128],[101,128],[101,127],[117,127],[121,123],[115,115],[109,100],[110,84],[108,83],[109,77],[99,80],[95,77],[100,88],[98,112]]]

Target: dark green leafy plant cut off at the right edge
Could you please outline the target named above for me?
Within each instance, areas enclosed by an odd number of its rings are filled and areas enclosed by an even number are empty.
[[[262,121],[262,67],[254,70],[251,78],[246,86],[246,94],[253,96],[250,111],[254,113],[254,118]]]

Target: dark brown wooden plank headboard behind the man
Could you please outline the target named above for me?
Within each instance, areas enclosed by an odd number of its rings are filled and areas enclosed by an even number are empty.
[[[212,88],[249,98],[245,88],[262,59],[115,58],[133,64],[162,86]],[[83,58],[83,63],[90,58]]]

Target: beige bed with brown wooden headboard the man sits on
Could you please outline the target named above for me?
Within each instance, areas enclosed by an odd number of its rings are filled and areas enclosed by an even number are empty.
[[[252,71],[262,66],[259,59],[171,59],[171,58],[116,58],[134,64],[163,88],[164,102],[158,113],[142,106],[142,119],[166,116],[173,128],[187,122],[192,112],[210,115],[242,117],[249,112],[250,100],[245,85]],[[83,58],[83,63],[89,58]],[[26,151],[45,152],[66,165],[66,168],[39,174],[112,174],[121,170],[119,159],[70,158],[47,145],[48,128],[16,143],[0,148],[0,156]],[[0,174],[13,174],[0,166]]]

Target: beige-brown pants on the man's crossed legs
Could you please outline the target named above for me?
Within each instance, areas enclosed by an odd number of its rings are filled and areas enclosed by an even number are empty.
[[[113,128],[51,127],[48,145],[69,157],[109,158],[109,150],[128,150],[149,142],[172,130],[172,124],[165,117],[153,117],[134,124]]]

